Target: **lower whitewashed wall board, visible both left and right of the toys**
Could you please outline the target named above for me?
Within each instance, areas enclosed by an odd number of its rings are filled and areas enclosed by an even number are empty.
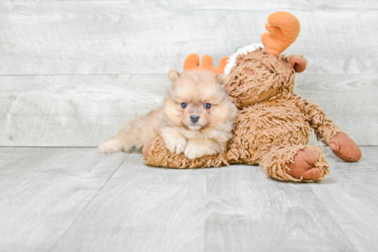
[[[166,74],[0,76],[0,83],[1,146],[98,146],[162,104],[170,87]],[[295,91],[357,144],[378,145],[376,74],[300,73]]]

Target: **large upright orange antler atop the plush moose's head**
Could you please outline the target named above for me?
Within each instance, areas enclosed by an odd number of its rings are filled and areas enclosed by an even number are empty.
[[[264,49],[269,55],[276,55],[296,41],[300,32],[300,23],[296,16],[289,12],[275,12],[268,17],[265,29],[268,32],[261,36]]]

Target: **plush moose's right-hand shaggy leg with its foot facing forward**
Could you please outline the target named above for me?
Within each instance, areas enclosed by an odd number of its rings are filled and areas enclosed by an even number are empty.
[[[329,163],[317,146],[282,146],[271,148],[260,165],[267,176],[283,181],[322,181],[329,174]]]

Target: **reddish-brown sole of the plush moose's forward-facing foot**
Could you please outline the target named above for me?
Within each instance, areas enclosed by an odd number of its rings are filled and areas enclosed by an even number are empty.
[[[293,158],[293,163],[287,163],[287,174],[296,179],[318,179],[322,171],[315,167],[319,160],[319,153],[311,148],[299,150]]]

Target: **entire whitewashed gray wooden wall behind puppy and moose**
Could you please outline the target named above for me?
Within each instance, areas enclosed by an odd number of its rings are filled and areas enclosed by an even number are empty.
[[[278,10],[302,25],[296,91],[377,145],[377,1],[164,0],[1,2],[0,146],[98,146],[162,102],[188,54],[218,62]]]

